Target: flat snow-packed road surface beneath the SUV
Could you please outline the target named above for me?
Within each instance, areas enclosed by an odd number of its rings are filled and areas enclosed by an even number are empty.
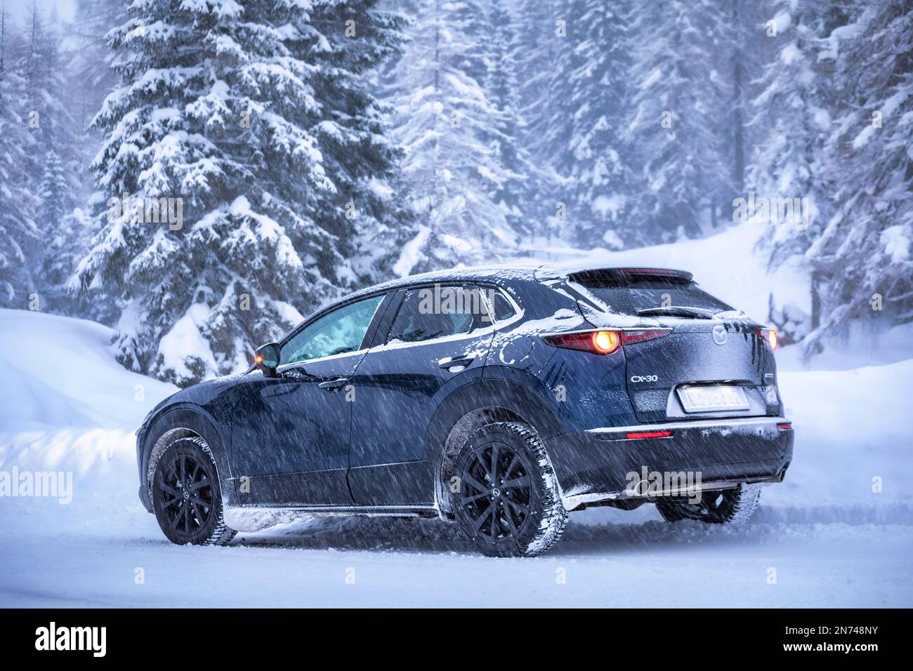
[[[627,515],[653,518],[646,508]],[[315,520],[194,548],[171,545],[146,517],[135,536],[4,542],[0,605],[913,605],[908,525],[572,522],[551,554],[497,560],[429,520]]]

